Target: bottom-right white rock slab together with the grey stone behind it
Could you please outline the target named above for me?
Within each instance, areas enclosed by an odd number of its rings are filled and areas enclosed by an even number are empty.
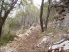
[[[69,35],[60,35],[61,40],[49,47],[48,52],[69,52]]]

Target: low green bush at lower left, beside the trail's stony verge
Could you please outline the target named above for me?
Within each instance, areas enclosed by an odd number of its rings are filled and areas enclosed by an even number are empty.
[[[13,41],[16,35],[4,34],[0,40],[0,46],[5,46],[9,41]]]

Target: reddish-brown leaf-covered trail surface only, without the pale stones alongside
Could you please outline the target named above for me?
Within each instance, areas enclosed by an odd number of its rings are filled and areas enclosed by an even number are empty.
[[[31,33],[29,33],[29,36],[26,37],[26,39],[20,40],[21,43],[17,48],[17,52],[39,52],[35,46],[39,39],[40,33],[40,27],[35,27],[32,29]]]

